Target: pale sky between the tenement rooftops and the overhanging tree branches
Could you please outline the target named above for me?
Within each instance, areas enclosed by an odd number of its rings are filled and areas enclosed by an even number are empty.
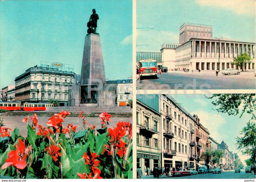
[[[217,107],[211,104],[212,99],[205,98],[205,95],[171,95],[182,107],[190,114],[197,115],[202,125],[208,128],[210,137],[221,143],[224,140],[229,146],[229,150],[238,153],[241,161],[250,157],[244,156],[239,150],[236,150],[235,138],[240,136],[240,131],[246,126],[251,116],[244,114],[239,116],[229,116],[219,113]],[[210,95],[209,95],[210,96]]]

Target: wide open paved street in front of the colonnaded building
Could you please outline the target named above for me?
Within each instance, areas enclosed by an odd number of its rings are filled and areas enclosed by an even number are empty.
[[[221,72],[221,71],[220,71]],[[138,75],[137,75],[138,77]],[[158,79],[145,78],[137,80],[137,90],[154,89],[255,89],[256,77],[254,72],[242,72],[240,75],[222,75],[216,76],[213,71],[188,72],[170,71],[158,75]]]

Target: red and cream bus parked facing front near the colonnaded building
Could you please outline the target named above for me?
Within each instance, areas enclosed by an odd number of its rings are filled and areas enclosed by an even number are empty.
[[[153,76],[154,78],[158,78],[157,61],[152,59],[140,60],[139,75],[140,80],[142,80],[142,77],[144,76]]]

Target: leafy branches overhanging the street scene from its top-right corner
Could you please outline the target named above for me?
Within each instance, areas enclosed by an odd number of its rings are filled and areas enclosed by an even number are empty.
[[[251,119],[256,119],[256,96],[255,94],[214,94],[208,99],[214,99],[211,103],[217,106],[218,112],[228,115],[238,115],[240,118],[244,113],[251,115]],[[242,107],[242,111],[239,108]]]

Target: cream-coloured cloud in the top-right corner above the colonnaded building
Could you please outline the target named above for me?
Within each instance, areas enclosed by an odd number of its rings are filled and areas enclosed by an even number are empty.
[[[255,16],[255,0],[195,0],[200,6],[216,7]]]

